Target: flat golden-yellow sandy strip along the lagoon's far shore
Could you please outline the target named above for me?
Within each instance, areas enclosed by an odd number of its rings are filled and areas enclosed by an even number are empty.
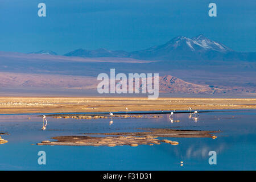
[[[256,109],[256,98],[0,97],[0,114]]]

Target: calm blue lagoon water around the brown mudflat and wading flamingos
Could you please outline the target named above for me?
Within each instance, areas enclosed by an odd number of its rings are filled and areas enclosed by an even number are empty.
[[[1,170],[255,170],[256,110],[201,113],[195,122],[189,114],[163,118],[56,119],[48,117],[47,130],[40,130],[36,115],[0,115]],[[30,117],[31,119],[28,119]],[[152,117],[152,115],[147,115]],[[159,138],[179,142],[154,146],[37,146],[43,140],[82,133],[141,131],[138,128],[221,130],[212,138]],[[34,144],[34,145],[32,145]],[[46,165],[38,164],[38,152],[46,152]],[[209,151],[217,152],[217,164],[208,162]],[[180,162],[183,161],[183,166]]]

